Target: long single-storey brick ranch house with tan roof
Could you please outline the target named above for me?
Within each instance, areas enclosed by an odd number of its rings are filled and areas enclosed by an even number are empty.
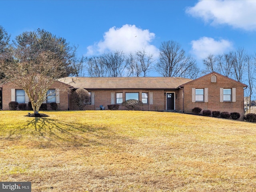
[[[96,110],[100,105],[120,104],[136,99],[143,102],[141,110],[177,110],[191,113],[192,108],[244,114],[244,88],[247,86],[216,72],[195,80],[180,77],[67,77],[54,83],[49,91],[56,97],[45,102],[56,102],[59,110],[77,110],[72,92],[85,88],[91,95],[86,110]],[[70,88],[70,91],[60,91]],[[9,110],[10,101],[28,103],[23,90],[14,84],[2,85],[2,109]]]

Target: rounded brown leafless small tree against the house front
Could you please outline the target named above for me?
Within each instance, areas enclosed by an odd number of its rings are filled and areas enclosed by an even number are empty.
[[[87,90],[83,88],[78,88],[74,93],[73,93],[73,99],[76,105],[78,106],[79,110],[83,110],[84,106],[86,106],[86,103],[90,102],[90,94],[88,93]]]

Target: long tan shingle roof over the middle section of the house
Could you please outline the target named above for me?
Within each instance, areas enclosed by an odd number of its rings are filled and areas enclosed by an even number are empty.
[[[74,88],[88,90],[148,89],[170,90],[191,79],[180,77],[66,77],[59,79]]]

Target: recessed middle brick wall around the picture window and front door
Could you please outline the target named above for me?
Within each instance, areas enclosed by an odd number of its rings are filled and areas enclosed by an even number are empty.
[[[84,107],[84,110],[96,110],[100,105],[105,106],[105,109],[108,110],[108,105],[116,104],[116,93],[122,93],[123,101],[126,100],[126,93],[139,93],[139,100],[142,100],[142,93],[148,93],[148,104],[144,104],[140,110],[147,111],[160,111],[166,110],[166,93],[174,92],[176,96],[175,106],[178,108],[178,99],[177,91],[175,90],[87,90],[91,92],[92,100],[94,104],[88,104]],[[114,94],[113,94],[114,93]],[[112,96],[111,96],[112,95]],[[114,98],[113,98],[114,95]],[[150,99],[153,104],[150,104]],[[76,104],[70,99],[70,110],[78,110]],[[125,106],[120,105],[119,110],[127,110]]]

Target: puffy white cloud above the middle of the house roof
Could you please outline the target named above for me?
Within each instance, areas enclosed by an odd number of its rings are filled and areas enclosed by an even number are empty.
[[[155,38],[155,34],[149,30],[142,30],[135,25],[124,25],[121,28],[112,27],[104,34],[104,40],[88,46],[86,55],[102,54],[105,51],[130,52],[146,49],[146,52],[158,56],[158,49],[150,42]]]

